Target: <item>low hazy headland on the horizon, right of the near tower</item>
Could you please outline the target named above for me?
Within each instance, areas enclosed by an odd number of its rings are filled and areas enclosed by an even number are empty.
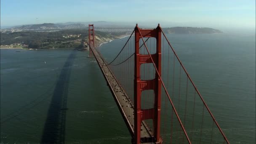
[[[163,31],[167,34],[213,34],[222,33],[218,29],[212,29],[208,27],[171,27],[163,28]]]

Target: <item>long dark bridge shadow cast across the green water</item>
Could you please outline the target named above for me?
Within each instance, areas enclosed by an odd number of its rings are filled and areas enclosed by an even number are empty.
[[[67,112],[67,94],[71,67],[77,50],[67,58],[53,91],[51,104],[44,124],[41,144],[64,144]]]

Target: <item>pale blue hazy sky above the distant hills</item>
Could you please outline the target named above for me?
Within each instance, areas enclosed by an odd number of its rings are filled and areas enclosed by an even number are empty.
[[[112,21],[255,29],[255,0],[1,0],[1,26]]]

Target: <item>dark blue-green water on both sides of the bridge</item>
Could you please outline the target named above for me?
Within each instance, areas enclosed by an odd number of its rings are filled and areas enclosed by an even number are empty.
[[[255,143],[255,34],[168,34],[234,144]],[[128,37],[101,45],[110,61]],[[76,50],[0,50],[1,143],[130,144],[94,58]]]

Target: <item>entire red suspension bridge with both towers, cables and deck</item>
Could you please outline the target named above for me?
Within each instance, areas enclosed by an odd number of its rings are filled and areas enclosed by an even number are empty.
[[[110,62],[94,45],[93,24],[88,45],[133,144],[229,144],[160,24],[155,29],[136,24]]]

